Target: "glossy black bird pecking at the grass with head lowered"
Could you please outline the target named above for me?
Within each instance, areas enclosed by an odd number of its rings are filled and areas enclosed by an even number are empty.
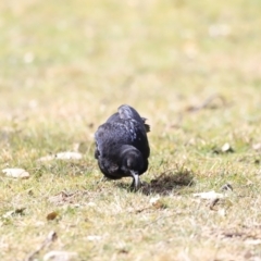
[[[139,175],[149,164],[150,127],[145,122],[134,108],[124,104],[95,134],[95,158],[101,172],[111,179],[132,176],[135,190],[140,185]]]

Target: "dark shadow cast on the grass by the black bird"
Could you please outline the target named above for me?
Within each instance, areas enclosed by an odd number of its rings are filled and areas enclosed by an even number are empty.
[[[184,167],[179,170],[167,170],[150,182],[144,182],[138,192],[147,196],[152,194],[166,196],[172,192],[176,194],[182,187],[190,187],[194,183],[191,171]],[[117,186],[130,190],[126,184],[119,183]]]

